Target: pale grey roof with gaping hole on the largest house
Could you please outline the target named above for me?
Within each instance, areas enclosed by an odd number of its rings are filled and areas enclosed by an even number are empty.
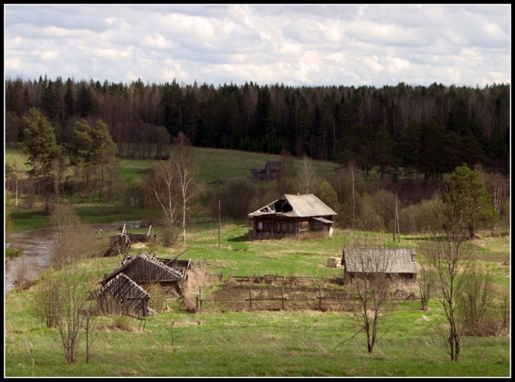
[[[312,216],[333,216],[337,215],[328,205],[323,203],[314,194],[284,194],[276,201],[251,212],[249,216],[290,216],[307,218]]]

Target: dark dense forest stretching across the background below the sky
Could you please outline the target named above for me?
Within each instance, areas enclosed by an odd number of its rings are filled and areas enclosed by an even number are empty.
[[[167,157],[183,132],[193,146],[350,161],[381,177],[439,179],[461,164],[509,172],[510,85],[382,88],[95,80],[5,80],[5,141],[22,142],[36,108],[70,142],[78,120],[102,120],[123,157]]]

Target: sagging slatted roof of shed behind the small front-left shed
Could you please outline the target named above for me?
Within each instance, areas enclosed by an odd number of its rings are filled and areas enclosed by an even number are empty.
[[[105,284],[119,273],[125,273],[135,282],[157,282],[170,280],[183,280],[180,272],[163,264],[160,260],[146,252],[141,252],[135,258],[127,259],[123,265],[108,273],[102,279]]]

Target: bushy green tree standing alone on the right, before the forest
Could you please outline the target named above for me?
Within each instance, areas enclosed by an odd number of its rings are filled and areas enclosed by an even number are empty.
[[[462,221],[468,236],[474,238],[474,228],[479,223],[495,220],[497,212],[492,196],[486,190],[479,172],[466,164],[455,168],[450,175],[447,192],[443,195],[448,221]]]

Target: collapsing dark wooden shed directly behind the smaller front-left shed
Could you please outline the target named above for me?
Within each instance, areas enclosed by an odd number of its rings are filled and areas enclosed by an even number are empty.
[[[181,284],[185,277],[181,271],[176,271],[164,265],[163,262],[154,256],[142,251],[138,256],[126,256],[122,265],[111,273],[106,274],[100,283],[102,285],[115,278],[119,273],[124,273],[130,280],[140,286],[159,283],[163,291],[181,290]]]

